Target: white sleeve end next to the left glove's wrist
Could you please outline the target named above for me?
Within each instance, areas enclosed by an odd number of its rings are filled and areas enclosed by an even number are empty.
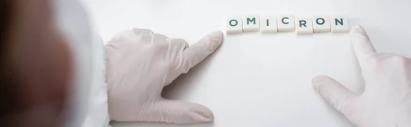
[[[107,83],[105,81],[105,49],[103,40],[93,32],[92,83],[88,98],[88,113],[82,127],[110,127],[108,115]]]

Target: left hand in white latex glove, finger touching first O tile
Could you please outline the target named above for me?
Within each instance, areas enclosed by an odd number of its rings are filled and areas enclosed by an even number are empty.
[[[215,31],[188,46],[148,29],[129,29],[105,45],[108,110],[112,120],[192,124],[214,119],[210,109],[160,96],[163,87],[213,53],[223,42]]]

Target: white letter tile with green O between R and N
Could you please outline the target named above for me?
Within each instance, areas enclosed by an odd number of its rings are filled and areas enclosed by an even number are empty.
[[[312,18],[312,24],[314,32],[329,32],[331,30],[329,16],[314,16]]]

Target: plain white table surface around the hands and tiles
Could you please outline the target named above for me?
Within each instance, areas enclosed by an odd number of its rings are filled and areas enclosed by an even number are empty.
[[[377,51],[411,57],[411,1],[406,0],[90,0],[88,6],[105,42],[124,29],[139,27],[192,44],[223,30],[227,16],[338,14],[348,16],[350,25],[362,25]],[[186,126],[352,126],[316,94],[310,81],[317,74],[362,92],[347,33],[229,35],[214,55],[174,81],[165,96],[214,111],[214,123]]]

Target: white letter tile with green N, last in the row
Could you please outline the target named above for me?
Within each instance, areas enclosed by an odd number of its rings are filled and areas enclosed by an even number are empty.
[[[346,16],[331,16],[331,32],[346,33],[348,29],[348,18]]]

